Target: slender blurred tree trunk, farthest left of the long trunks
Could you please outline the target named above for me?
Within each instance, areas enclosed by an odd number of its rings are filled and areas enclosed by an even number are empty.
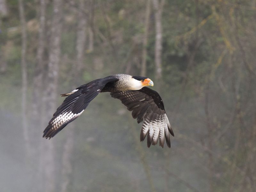
[[[21,113],[22,113],[22,127],[23,137],[25,140],[27,156],[31,155],[29,137],[28,137],[28,120],[27,120],[27,90],[28,90],[28,77],[27,77],[27,31],[26,20],[24,15],[23,0],[19,0],[20,11],[20,24],[21,24],[21,71],[22,71],[22,101],[21,101]]]

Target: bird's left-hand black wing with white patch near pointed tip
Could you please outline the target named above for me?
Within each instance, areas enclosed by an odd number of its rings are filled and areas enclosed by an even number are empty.
[[[84,112],[84,109],[99,94],[99,92],[108,82],[116,80],[116,78],[111,77],[97,79],[76,88],[71,93],[62,94],[63,96],[69,96],[53,114],[52,119],[44,130],[43,137],[49,139],[54,137],[54,135],[60,132],[60,130],[62,130],[67,124],[74,121]]]

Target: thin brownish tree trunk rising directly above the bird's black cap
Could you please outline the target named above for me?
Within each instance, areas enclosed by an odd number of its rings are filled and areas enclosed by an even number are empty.
[[[148,27],[149,27],[149,16],[150,16],[150,3],[151,1],[147,2],[146,8],[146,15],[145,15],[145,31],[143,37],[143,49],[142,49],[142,63],[141,63],[141,70],[140,76],[146,76],[146,62],[147,62],[147,45],[148,45]]]

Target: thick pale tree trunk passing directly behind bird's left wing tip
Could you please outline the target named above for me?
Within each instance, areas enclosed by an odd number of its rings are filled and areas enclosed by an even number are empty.
[[[48,76],[46,88],[47,119],[51,119],[56,110],[56,98],[58,90],[59,62],[60,62],[60,39],[62,29],[62,0],[53,0],[53,17],[51,26]],[[44,142],[44,186],[45,191],[55,191],[55,163],[53,140]]]

